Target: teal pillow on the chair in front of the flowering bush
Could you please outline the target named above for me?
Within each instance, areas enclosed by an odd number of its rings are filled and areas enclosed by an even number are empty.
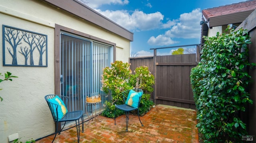
[[[134,90],[130,90],[125,104],[133,108],[138,108],[138,103],[142,94],[143,92],[136,92]]]

